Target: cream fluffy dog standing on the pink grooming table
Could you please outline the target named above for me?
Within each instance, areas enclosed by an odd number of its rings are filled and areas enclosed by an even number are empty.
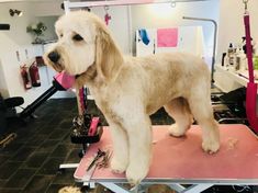
[[[78,88],[86,84],[90,89],[110,125],[112,171],[126,171],[133,184],[147,175],[152,159],[149,115],[161,106],[176,121],[170,127],[172,136],[184,135],[193,115],[203,130],[202,148],[218,150],[210,72],[201,58],[183,53],[124,56],[105,24],[86,11],[61,16],[56,33],[58,42],[45,54],[45,61],[57,71],[77,76]]]

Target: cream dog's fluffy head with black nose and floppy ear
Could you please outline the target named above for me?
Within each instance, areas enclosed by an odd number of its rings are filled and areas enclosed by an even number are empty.
[[[55,27],[58,42],[44,55],[44,60],[56,71],[76,76],[94,66],[94,73],[106,78],[122,63],[105,24],[93,13],[70,12]]]

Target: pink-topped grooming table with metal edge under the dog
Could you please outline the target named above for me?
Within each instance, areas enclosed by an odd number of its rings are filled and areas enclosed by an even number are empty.
[[[221,149],[214,155],[202,150],[200,126],[193,125],[181,138],[171,137],[168,127],[153,126],[153,162],[142,185],[167,184],[177,192],[198,193],[214,184],[258,184],[258,139],[247,126],[220,125]],[[110,168],[96,169],[91,178],[86,178],[90,158],[98,148],[112,149],[108,127],[81,159],[74,175],[76,181],[100,183],[117,193],[135,192],[117,185],[126,183],[126,178],[112,173]],[[193,185],[186,189],[180,184]]]

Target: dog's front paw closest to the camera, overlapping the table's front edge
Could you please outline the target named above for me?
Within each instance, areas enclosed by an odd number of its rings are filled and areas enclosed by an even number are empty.
[[[132,167],[126,170],[126,179],[131,185],[138,185],[141,181],[147,175],[147,167]]]

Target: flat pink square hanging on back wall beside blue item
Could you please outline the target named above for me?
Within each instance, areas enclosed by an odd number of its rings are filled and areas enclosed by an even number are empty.
[[[177,47],[178,29],[159,29],[157,30],[158,47]]]

